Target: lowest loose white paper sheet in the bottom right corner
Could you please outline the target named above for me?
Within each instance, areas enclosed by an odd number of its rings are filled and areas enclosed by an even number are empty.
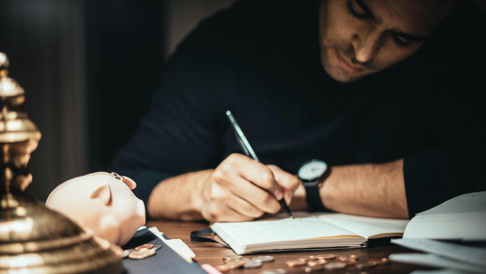
[[[434,254],[423,254],[423,253],[399,253],[392,254],[388,256],[392,261],[401,263],[410,263],[430,267],[448,268],[458,271],[467,271],[478,274],[485,274],[486,268],[471,265],[469,263],[464,263],[461,261],[452,260],[450,258],[445,258],[437,256]]]

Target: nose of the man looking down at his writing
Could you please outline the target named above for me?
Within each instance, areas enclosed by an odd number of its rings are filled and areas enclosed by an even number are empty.
[[[355,34],[352,39],[354,57],[361,63],[373,59],[380,49],[381,34],[378,30],[368,30],[361,34]]]

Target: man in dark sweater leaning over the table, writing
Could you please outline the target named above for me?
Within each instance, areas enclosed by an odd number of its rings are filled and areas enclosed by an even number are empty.
[[[467,6],[238,2],[178,47],[116,171],[152,218],[184,220],[252,220],[281,197],[308,210],[294,174],[312,159],[332,166],[317,190],[330,211],[409,218],[484,190],[484,29],[458,43],[474,32],[461,13],[440,31],[453,9]],[[226,110],[261,162],[241,154]]]

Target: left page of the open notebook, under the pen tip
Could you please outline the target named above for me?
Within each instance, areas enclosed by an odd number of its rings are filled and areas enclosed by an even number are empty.
[[[211,228],[218,235],[223,234],[231,237],[241,246],[341,235],[359,237],[347,229],[317,217],[271,221],[216,222],[211,225]]]

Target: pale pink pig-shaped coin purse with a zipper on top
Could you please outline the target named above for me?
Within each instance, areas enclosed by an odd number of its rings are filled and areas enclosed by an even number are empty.
[[[143,201],[131,190],[136,186],[128,177],[98,172],[60,184],[46,206],[122,246],[145,224]]]

